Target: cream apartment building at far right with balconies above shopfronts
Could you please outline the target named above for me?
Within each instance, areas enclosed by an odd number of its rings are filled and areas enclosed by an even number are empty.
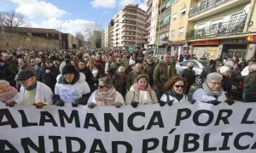
[[[187,31],[191,53],[208,59],[252,58],[256,40],[247,37],[256,33],[254,8],[254,0],[191,0]]]

